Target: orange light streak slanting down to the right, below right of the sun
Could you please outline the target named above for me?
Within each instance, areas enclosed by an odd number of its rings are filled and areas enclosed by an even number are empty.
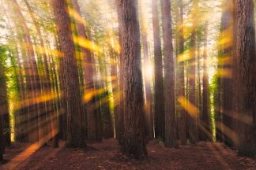
[[[183,96],[179,96],[178,98],[179,104],[186,109],[186,112],[190,114],[190,116],[198,117],[199,116],[199,109],[190,101],[186,100]]]

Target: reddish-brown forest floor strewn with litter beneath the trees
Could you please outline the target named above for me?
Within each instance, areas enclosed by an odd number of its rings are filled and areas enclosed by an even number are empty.
[[[17,146],[15,146],[17,145]],[[256,160],[247,157],[238,157],[234,150],[216,142],[200,142],[197,145],[179,146],[168,149],[157,140],[147,145],[149,157],[145,160],[134,160],[119,152],[120,146],[115,139],[107,139],[99,143],[88,143],[92,150],[74,150],[63,147],[61,142],[58,149],[49,143],[40,150],[32,153],[26,161],[16,168],[17,170],[141,170],[141,169],[207,169],[207,170],[243,170],[256,169]],[[6,159],[11,159],[13,153],[19,153],[21,144],[14,144],[7,149]],[[27,146],[23,146],[27,147]],[[14,150],[14,151],[13,151]],[[10,152],[13,151],[13,152]],[[8,164],[8,162],[6,163]],[[11,164],[11,161],[9,161]],[[3,166],[0,166],[0,169]]]

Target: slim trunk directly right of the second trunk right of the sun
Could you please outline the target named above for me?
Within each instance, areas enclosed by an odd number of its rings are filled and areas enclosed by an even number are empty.
[[[178,56],[177,61],[179,58],[179,54],[183,53],[184,50],[184,29],[183,29],[183,0],[179,1],[179,31],[178,31]],[[184,65],[185,62],[179,62],[178,64],[178,74],[177,74],[177,80],[178,80],[178,96],[185,97],[185,79],[184,79]],[[186,110],[183,108],[182,105],[177,105],[177,111],[179,114],[179,139],[181,141],[182,145],[186,144]]]

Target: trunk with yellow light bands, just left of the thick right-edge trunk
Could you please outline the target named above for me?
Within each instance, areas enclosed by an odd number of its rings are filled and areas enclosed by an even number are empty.
[[[228,39],[227,43],[220,44],[220,57],[219,57],[219,69],[223,72],[232,70],[233,67],[233,3],[232,0],[226,0],[223,4],[223,13],[220,25],[220,41],[223,39]],[[224,63],[225,61],[225,63]],[[222,122],[217,126],[222,129],[224,134],[224,143],[228,146],[234,146],[235,138],[235,113],[232,113],[232,98],[233,90],[232,84],[234,83],[234,77],[219,77],[220,90],[222,94],[219,103],[219,113],[222,115]],[[220,91],[219,91],[220,93]],[[223,109],[221,109],[221,107]],[[221,110],[220,110],[221,109]],[[232,134],[228,134],[227,129],[232,131]]]

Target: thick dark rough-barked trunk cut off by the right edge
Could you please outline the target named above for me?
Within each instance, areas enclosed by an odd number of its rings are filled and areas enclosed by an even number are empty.
[[[235,100],[238,113],[239,155],[256,155],[256,55],[254,2],[234,0],[235,24]],[[247,121],[245,121],[247,120]]]

